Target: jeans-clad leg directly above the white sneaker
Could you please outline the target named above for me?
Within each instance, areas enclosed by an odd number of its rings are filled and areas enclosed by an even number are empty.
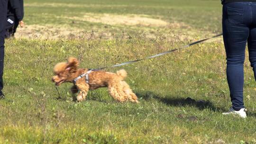
[[[249,7],[246,2],[231,2],[223,6],[222,29],[227,56],[227,80],[232,107],[236,111],[244,108],[244,60],[249,35]]]

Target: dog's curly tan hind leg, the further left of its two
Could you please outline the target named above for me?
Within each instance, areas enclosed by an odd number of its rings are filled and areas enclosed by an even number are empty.
[[[119,102],[124,102],[127,100],[127,95],[123,92],[122,86],[119,84],[119,82],[111,82],[109,83],[109,93],[110,95],[118,100]]]

